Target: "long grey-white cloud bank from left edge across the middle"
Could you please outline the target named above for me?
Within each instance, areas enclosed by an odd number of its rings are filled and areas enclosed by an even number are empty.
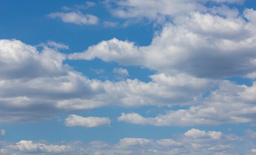
[[[45,120],[61,112],[112,105],[187,104],[217,82],[185,73],[155,74],[148,83],[137,79],[117,82],[88,79],[63,64],[69,56],[58,50],[67,46],[50,41],[41,46],[43,50],[38,51],[18,40],[0,41],[0,122]],[[128,75],[123,68],[114,72],[122,77]],[[201,84],[197,84],[199,81]]]

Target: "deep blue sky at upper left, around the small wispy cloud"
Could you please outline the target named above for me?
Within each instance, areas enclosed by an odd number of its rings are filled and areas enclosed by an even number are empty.
[[[98,4],[99,6],[82,10],[84,14],[90,13],[99,17],[99,23],[96,25],[63,23],[61,20],[52,20],[47,17],[49,13],[61,12],[61,7],[72,7],[75,3],[83,4],[81,1],[71,2],[67,0],[63,0],[61,3],[27,1],[26,5],[19,0],[2,1],[0,37],[2,39],[15,38],[31,45],[54,40],[67,44],[70,47],[70,50],[68,50],[70,53],[82,52],[89,46],[113,37],[134,41],[135,44],[140,46],[150,44],[155,31],[152,25],[131,25],[126,28],[122,26],[115,28],[104,27],[103,21],[116,20],[116,18],[112,17],[105,9],[102,9],[101,3]]]

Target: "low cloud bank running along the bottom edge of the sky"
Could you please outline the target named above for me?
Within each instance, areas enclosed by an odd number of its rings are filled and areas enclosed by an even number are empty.
[[[194,136],[195,134],[195,136]],[[117,144],[108,144],[102,141],[91,142],[61,142],[49,144],[46,141],[33,142],[22,140],[17,143],[1,142],[0,153],[16,153],[16,155],[205,155],[205,154],[238,154],[239,146],[234,142],[243,142],[244,137],[234,134],[223,134],[220,131],[201,131],[191,129],[176,135],[171,139],[122,138]],[[253,153],[255,149],[246,151]],[[200,152],[199,152],[200,151]],[[251,154],[248,154],[251,155]]]

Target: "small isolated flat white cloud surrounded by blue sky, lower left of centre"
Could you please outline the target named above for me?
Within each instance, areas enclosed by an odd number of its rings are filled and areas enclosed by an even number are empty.
[[[82,117],[77,115],[70,115],[65,119],[65,125],[67,127],[81,126],[81,127],[100,127],[106,124],[110,124],[110,118],[105,117]]]

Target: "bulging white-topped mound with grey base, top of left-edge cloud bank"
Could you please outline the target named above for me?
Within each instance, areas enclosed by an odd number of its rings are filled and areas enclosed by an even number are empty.
[[[1,39],[0,51],[0,79],[65,75],[66,56],[46,46],[38,52],[19,40]]]

